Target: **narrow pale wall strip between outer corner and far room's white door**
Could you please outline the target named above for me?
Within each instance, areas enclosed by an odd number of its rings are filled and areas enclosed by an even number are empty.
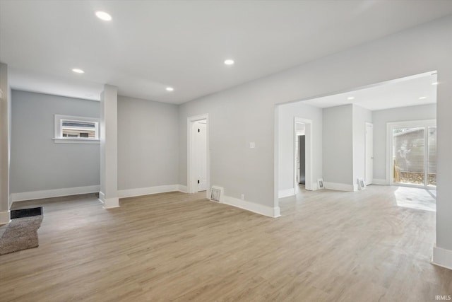
[[[353,105],[353,184],[366,176],[366,122],[372,122],[372,112]]]

